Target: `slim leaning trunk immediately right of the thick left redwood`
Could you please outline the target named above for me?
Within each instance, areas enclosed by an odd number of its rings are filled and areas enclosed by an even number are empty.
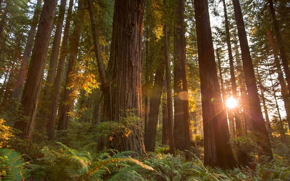
[[[66,0],[61,0],[60,6],[59,6],[59,14],[56,20],[56,30],[54,34],[49,68],[48,68],[46,82],[45,82],[46,84],[45,84],[44,93],[43,93],[44,94],[43,101],[45,103],[49,102],[48,104],[50,104],[50,95],[53,91],[52,87],[54,83],[54,77],[56,74],[57,60],[58,60],[58,56],[60,52],[60,40],[61,40],[62,31],[63,31],[63,20],[64,20],[65,12],[66,12]],[[47,121],[50,116],[50,113],[45,110],[41,110],[41,112],[43,116],[42,116],[42,119],[39,122],[37,122],[38,130],[47,128]]]

